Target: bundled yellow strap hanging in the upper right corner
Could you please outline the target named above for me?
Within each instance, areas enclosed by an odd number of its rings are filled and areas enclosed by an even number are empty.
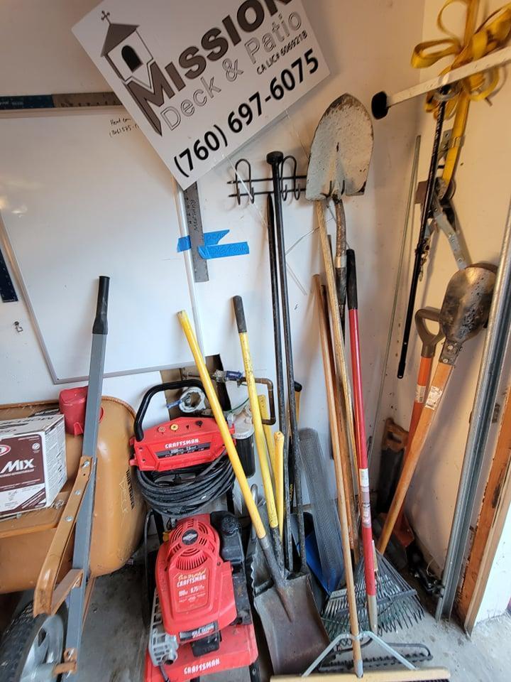
[[[461,37],[449,31],[444,23],[444,11],[455,3],[463,4],[466,9],[465,30]],[[507,3],[492,12],[477,28],[478,9],[479,0],[446,0],[436,18],[436,26],[446,35],[446,38],[425,40],[416,45],[412,53],[412,67],[424,69],[452,55],[454,59],[449,66],[441,71],[441,75],[443,75],[502,47],[511,36],[511,3]],[[461,90],[456,97],[449,99],[446,104],[446,117],[453,115],[455,117],[450,148],[442,173],[446,185],[451,182],[456,168],[456,161],[465,134],[469,104],[471,101],[480,102],[482,99],[488,99],[498,87],[499,78],[500,70],[498,68],[488,69],[469,76],[461,82]],[[429,92],[424,108],[436,116],[438,106],[438,102],[434,99],[434,92]]]

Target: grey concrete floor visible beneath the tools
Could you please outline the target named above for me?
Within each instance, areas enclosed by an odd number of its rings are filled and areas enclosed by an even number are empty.
[[[77,682],[143,682],[147,635],[142,618],[142,576],[124,568],[97,580],[87,617]],[[427,615],[412,630],[385,639],[423,642],[434,659],[446,666],[454,682],[509,682],[511,679],[511,616],[476,627],[468,639],[454,624],[436,623]],[[246,671],[219,673],[208,682],[247,682]]]

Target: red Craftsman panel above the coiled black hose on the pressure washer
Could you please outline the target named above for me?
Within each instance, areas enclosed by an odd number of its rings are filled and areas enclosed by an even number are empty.
[[[234,426],[229,429],[234,433]],[[143,440],[132,438],[131,465],[142,471],[170,471],[214,462],[225,446],[211,417],[178,417],[145,429]]]

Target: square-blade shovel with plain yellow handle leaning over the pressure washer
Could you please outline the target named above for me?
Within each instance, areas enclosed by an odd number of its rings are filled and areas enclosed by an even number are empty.
[[[273,546],[266,534],[263,520],[260,517],[251,489],[248,485],[243,466],[229,433],[224,413],[221,410],[218,396],[199,349],[192,325],[185,310],[177,313],[188,345],[199,370],[204,390],[206,391],[216,424],[224,440],[227,455],[236,474],[241,494],[250,514],[255,534],[258,536],[260,548],[265,556],[268,571],[273,580],[257,597],[255,608],[258,611],[266,642],[270,650],[273,671],[276,675],[302,673],[329,643],[314,597],[305,575],[285,580],[282,577],[275,559]]]

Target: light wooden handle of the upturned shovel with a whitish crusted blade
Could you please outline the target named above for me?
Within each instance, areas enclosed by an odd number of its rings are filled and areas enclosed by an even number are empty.
[[[348,369],[346,365],[346,354],[344,352],[344,339],[341,331],[341,317],[339,315],[339,305],[337,303],[336,283],[334,276],[334,266],[331,261],[330,244],[328,232],[326,230],[326,220],[324,217],[324,202],[316,201],[316,215],[319,225],[319,239],[323,254],[324,269],[326,275],[326,293],[332,320],[332,332],[334,335],[334,357],[336,369],[341,383],[344,396],[344,421],[348,435],[348,443],[351,450],[350,465],[353,470],[353,458],[356,457],[355,426],[353,423],[353,406],[351,404],[351,394],[349,389]],[[353,489],[353,496],[356,491]],[[351,497],[351,496],[350,496]]]

